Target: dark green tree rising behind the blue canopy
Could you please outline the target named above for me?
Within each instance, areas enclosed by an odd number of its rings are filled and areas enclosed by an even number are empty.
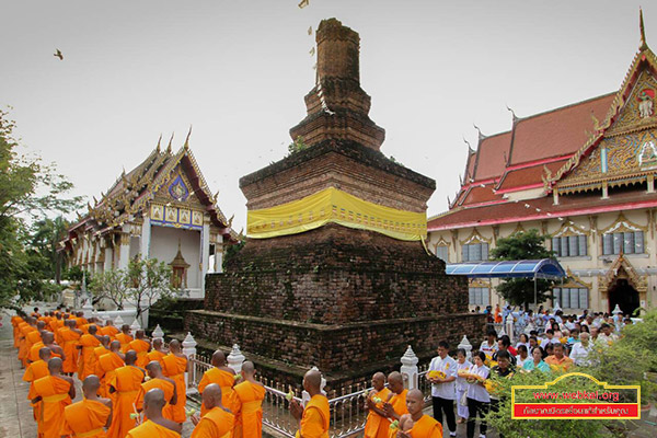
[[[491,251],[491,258],[496,261],[518,261],[518,260],[540,260],[552,258],[554,253],[545,249],[545,239],[549,235],[541,235],[535,229],[527,232],[519,231],[508,238],[497,240],[496,247]],[[543,302],[550,298],[554,281],[538,279],[535,284],[535,295],[538,302]],[[523,306],[529,308],[529,303],[534,301],[534,280],[533,278],[510,278],[505,279],[497,286],[497,291],[512,306]]]

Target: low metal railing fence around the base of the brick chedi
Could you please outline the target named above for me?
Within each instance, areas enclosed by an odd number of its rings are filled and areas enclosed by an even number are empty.
[[[192,364],[188,378],[188,393],[196,392],[203,373],[211,368],[207,357],[193,355],[189,357]],[[425,394],[425,402],[431,399],[431,384],[426,380],[428,364],[418,367],[418,387]],[[265,400],[263,401],[263,425],[278,434],[292,438],[297,431],[297,420],[289,412],[289,402],[286,399],[289,389],[283,388],[275,381],[263,379],[265,385]],[[331,410],[331,426],[328,436],[331,438],[347,438],[362,434],[367,422],[368,410],[366,408],[366,394],[372,388],[362,383],[343,388],[339,393],[332,391],[328,399]],[[301,402],[301,399],[295,396]]]

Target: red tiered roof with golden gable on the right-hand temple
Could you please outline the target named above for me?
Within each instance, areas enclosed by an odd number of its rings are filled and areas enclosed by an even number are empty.
[[[529,117],[514,114],[511,130],[494,136],[480,134],[476,151],[469,149],[465,177],[450,210],[431,218],[428,230],[472,224],[473,219],[488,217],[488,210],[483,212],[485,208],[495,210],[496,223],[549,218],[545,214],[550,211],[563,214],[562,206],[552,206],[552,197],[548,198],[554,191],[581,194],[603,185],[622,186],[654,177],[657,166],[652,164],[657,162],[657,146],[654,157],[648,153],[652,150],[644,153],[649,166],[637,163],[642,159],[632,149],[635,147],[627,146],[637,141],[644,145],[650,139],[657,145],[654,110],[649,116],[638,114],[639,93],[652,93],[655,100],[657,90],[657,58],[645,42],[642,13],[639,23],[639,50],[619,91]],[[637,132],[643,132],[641,139],[622,137],[636,137]],[[600,147],[609,150],[609,169],[607,152],[601,152]],[[531,189],[539,189],[540,194],[527,195],[529,200],[520,201],[520,207],[514,205],[509,194]],[[600,196],[595,198],[599,200]],[[621,198],[614,194],[603,204],[625,201]],[[641,199],[645,199],[645,193]],[[525,204],[530,207],[525,208]],[[560,204],[568,201],[562,198]]]

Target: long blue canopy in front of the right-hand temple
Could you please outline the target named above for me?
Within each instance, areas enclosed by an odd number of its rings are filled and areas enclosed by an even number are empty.
[[[505,262],[469,262],[446,266],[447,275],[469,278],[560,278],[566,272],[554,258]]]

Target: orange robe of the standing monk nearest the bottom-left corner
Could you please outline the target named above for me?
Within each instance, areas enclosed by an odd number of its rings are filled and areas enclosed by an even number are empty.
[[[37,419],[39,438],[60,438],[64,408],[71,404],[70,388],[68,381],[55,376],[46,376],[32,383],[27,397],[42,397],[41,418]]]

